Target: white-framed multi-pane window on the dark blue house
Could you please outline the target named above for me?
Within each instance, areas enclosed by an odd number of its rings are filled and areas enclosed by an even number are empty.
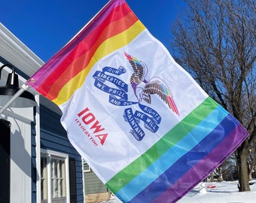
[[[41,203],[69,202],[69,156],[50,150],[41,153]]]

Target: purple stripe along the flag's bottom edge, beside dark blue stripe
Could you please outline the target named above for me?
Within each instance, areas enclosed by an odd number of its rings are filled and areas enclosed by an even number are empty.
[[[239,136],[240,135],[240,136]],[[207,177],[218,165],[221,165],[231,153],[247,138],[248,132],[241,125],[236,126],[230,135],[224,139],[209,155],[205,156],[197,165],[190,168],[184,176],[176,181],[166,192],[163,192],[154,202],[175,202],[193,189],[200,181]],[[229,147],[230,146],[230,147]],[[219,156],[225,154],[225,156]],[[166,201],[168,199],[168,201]]]

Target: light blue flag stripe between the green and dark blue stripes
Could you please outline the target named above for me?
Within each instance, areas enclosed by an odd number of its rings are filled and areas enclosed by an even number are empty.
[[[169,148],[163,156],[152,163],[145,171],[133,178],[130,183],[123,186],[115,195],[130,201],[139,194],[145,187],[152,183],[157,177],[163,174],[172,164],[174,164],[181,156],[193,149],[203,138],[206,138],[216,126],[227,117],[228,112],[218,105],[211,114],[206,117],[198,126],[190,131],[181,141],[178,141],[173,147]],[[174,135],[175,136],[175,135]],[[175,155],[175,156],[174,156]]]

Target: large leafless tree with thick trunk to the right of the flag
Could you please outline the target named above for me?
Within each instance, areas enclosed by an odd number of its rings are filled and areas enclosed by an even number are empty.
[[[239,191],[249,191],[248,153],[256,138],[254,0],[190,0],[172,29],[175,60],[249,132],[236,150]]]

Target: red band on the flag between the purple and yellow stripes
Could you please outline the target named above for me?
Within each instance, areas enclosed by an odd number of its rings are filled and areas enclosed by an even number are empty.
[[[52,89],[53,83],[60,82],[55,86],[57,89],[51,90],[49,95],[50,98],[56,98],[59,89],[61,89],[62,86],[64,86],[71,78],[75,77],[75,75],[86,68],[90,62],[91,56],[93,56],[93,53],[95,53],[95,50],[99,44],[102,44],[102,41],[105,41],[106,38],[110,38],[111,36],[116,35],[118,32],[121,32],[121,29],[127,29],[126,22],[124,26],[122,26],[123,24],[121,23],[120,28],[118,26],[105,30],[111,25],[111,23],[114,23],[117,20],[122,20],[129,13],[130,11],[128,9],[124,9],[123,5],[120,5],[111,11],[108,17],[106,17],[106,19],[99,24],[99,26],[97,26],[93,32],[90,32],[87,36],[85,36],[84,39],[82,39],[82,41],[78,43],[76,47],[69,53],[69,55],[66,56],[66,58],[63,59],[56,68],[54,68],[55,70],[53,73],[47,77],[47,80],[44,80],[44,82],[38,86],[38,89],[44,89],[45,94],[48,95],[50,89]],[[81,56],[84,58],[83,64],[81,65],[81,63],[78,63],[78,65],[74,66],[75,60],[79,59]],[[65,73],[65,75],[62,76],[63,73]],[[63,78],[65,78],[65,80],[63,80]]]

